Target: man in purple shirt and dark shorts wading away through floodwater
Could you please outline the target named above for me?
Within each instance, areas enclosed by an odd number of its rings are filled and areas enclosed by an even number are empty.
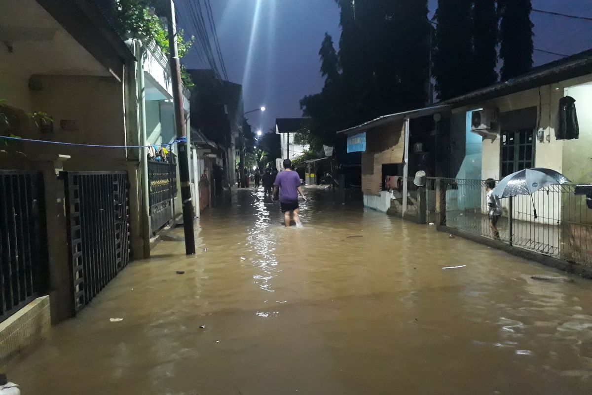
[[[298,206],[298,194],[300,194],[304,201],[304,192],[300,185],[300,176],[297,172],[292,171],[292,161],[284,160],[284,171],[279,172],[274,182],[274,197],[279,188],[279,205],[284,213],[284,223],[290,226],[290,216],[294,214],[294,222],[297,227],[301,227],[300,223],[300,207]]]

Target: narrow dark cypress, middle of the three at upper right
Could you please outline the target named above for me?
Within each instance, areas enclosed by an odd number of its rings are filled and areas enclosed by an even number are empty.
[[[472,89],[484,88],[497,82],[498,14],[496,0],[474,0]]]

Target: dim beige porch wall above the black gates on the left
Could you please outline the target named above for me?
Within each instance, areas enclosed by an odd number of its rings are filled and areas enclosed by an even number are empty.
[[[114,78],[96,76],[37,76],[41,89],[30,92],[31,108],[53,118],[53,133],[35,128],[22,137],[56,142],[126,145],[123,86]],[[60,123],[70,122],[62,130]],[[67,130],[71,129],[71,130]],[[66,170],[126,170],[123,148],[88,148],[51,144],[24,144],[27,155],[70,155]]]

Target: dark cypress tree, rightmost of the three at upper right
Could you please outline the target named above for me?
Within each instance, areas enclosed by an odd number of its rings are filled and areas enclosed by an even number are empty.
[[[532,68],[534,50],[530,0],[498,0],[501,7],[501,79],[507,81]]]

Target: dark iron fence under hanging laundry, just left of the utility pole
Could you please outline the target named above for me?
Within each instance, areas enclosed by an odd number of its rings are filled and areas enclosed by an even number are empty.
[[[177,193],[176,163],[148,162],[150,225],[156,232],[173,219],[173,199]]]

